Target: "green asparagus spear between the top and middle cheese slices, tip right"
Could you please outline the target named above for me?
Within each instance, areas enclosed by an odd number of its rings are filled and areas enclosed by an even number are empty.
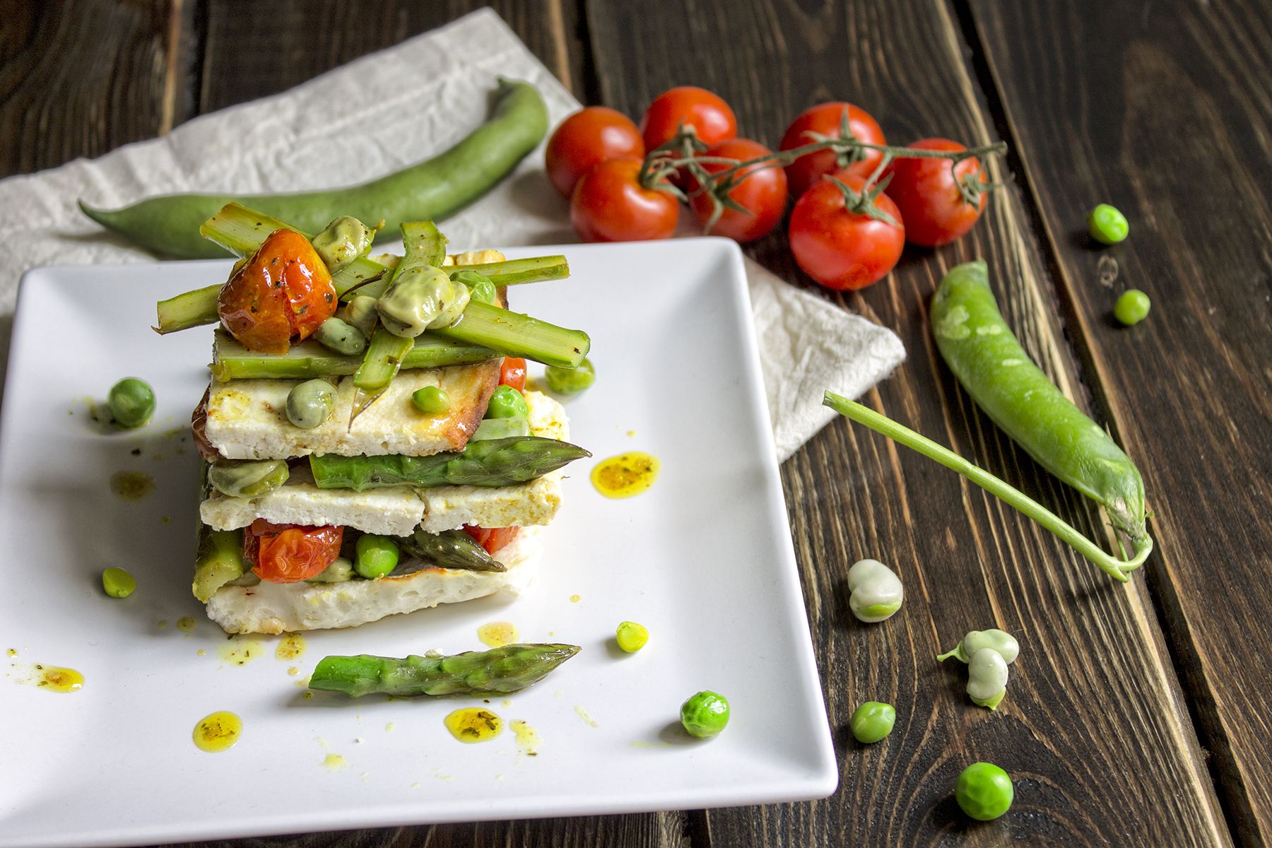
[[[543,477],[562,465],[591,456],[567,441],[513,436],[469,441],[459,453],[431,456],[309,456],[318,488],[361,492],[385,486],[511,486]]]

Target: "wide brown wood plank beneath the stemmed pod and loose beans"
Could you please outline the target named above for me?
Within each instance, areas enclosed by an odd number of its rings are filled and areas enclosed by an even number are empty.
[[[595,0],[588,20],[602,95],[632,116],[664,88],[701,84],[734,106],[743,135],[768,142],[800,109],[832,98],[864,106],[897,141],[990,140],[982,93],[944,3],[702,0],[654,14]],[[941,273],[983,257],[1025,347],[1084,402],[1025,222],[1020,195],[1009,188],[969,238],[908,253],[887,282],[833,299],[895,329],[909,352],[869,403],[1099,538],[1098,514],[973,407],[936,362],[926,328]],[[808,285],[780,235],[752,253]],[[814,804],[709,811],[712,844],[1227,840],[1142,577],[1126,589],[1109,582],[979,489],[845,422],[796,454],[784,481],[841,788]],[[861,626],[847,610],[845,572],[864,556],[890,562],[906,581],[906,609],[883,626]],[[1024,646],[992,715],[967,703],[960,670],[932,659],[964,631],[991,626]],[[899,720],[888,741],[862,748],[847,720],[868,699],[894,703]],[[950,797],[976,759],[1018,781],[1015,806],[992,825],[969,826]]]

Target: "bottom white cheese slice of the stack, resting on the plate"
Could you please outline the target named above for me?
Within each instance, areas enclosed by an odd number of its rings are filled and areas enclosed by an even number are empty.
[[[223,586],[207,601],[207,617],[226,633],[293,633],[357,627],[385,615],[483,598],[500,590],[520,594],[533,581],[542,556],[538,530],[527,528],[495,554],[508,571],[425,568],[404,577],[342,584]]]

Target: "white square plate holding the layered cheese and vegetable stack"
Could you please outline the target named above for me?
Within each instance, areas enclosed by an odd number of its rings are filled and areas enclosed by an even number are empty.
[[[305,636],[226,636],[190,594],[198,458],[190,411],[211,331],[159,337],[154,303],[224,281],[228,262],[60,267],[22,281],[0,421],[0,845],[113,845],[413,823],[695,809],[823,797],[837,768],[764,408],[738,248],[722,239],[509,250],[565,253],[572,276],[513,305],[593,339],[599,379],[567,404],[594,459],[572,467],[520,598],[397,615]],[[154,385],[141,431],[100,434],[88,400],[125,375]],[[533,375],[533,371],[532,371]],[[654,487],[607,500],[597,460],[656,455]],[[123,501],[111,475],[155,481]],[[137,591],[107,598],[100,572]],[[191,617],[192,632],[177,627]],[[612,647],[631,619],[650,631]],[[359,701],[303,681],[328,653],[482,650],[478,626],[583,646],[490,708],[510,730],[464,745],[443,717],[468,698]],[[188,619],[186,622],[190,624]],[[257,655],[238,664],[229,651]],[[15,652],[15,653],[14,653]],[[3,656],[3,655],[0,655]],[[57,694],[34,664],[83,673]],[[289,675],[289,667],[298,671]],[[720,736],[679,731],[681,702],[725,694]],[[191,740],[219,709],[243,718],[228,751]],[[337,754],[347,764],[324,763]]]

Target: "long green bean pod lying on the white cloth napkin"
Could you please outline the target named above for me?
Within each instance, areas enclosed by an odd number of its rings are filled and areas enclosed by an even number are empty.
[[[80,209],[90,219],[154,253],[181,259],[223,257],[198,228],[230,201],[318,233],[340,216],[384,219],[380,233],[404,221],[444,219],[502,179],[547,133],[547,107],[529,83],[499,81],[491,118],[449,150],[349,188],[291,195],[164,195],[118,210]]]

